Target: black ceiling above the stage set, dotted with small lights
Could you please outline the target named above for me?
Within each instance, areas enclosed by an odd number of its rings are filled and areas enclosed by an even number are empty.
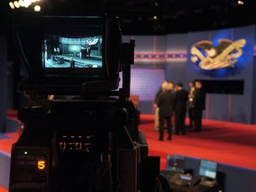
[[[1,15],[7,15],[1,16],[4,26],[10,24],[8,18],[13,12],[8,4],[1,0]],[[244,5],[237,4],[237,0],[41,0],[40,4],[42,12],[114,13],[124,35],[163,35],[256,24],[255,0],[244,0]],[[19,9],[20,13],[24,11]]]

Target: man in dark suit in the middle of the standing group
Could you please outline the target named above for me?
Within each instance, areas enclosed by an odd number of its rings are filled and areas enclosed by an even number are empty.
[[[187,112],[188,91],[183,89],[183,84],[176,85],[174,98],[175,134],[185,134],[185,118]]]

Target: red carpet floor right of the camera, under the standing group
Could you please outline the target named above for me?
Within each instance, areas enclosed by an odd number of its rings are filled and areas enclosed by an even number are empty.
[[[161,156],[161,169],[165,169],[166,156],[172,154],[256,170],[255,124],[203,120],[203,126],[202,132],[187,128],[186,135],[173,135],[172,140],[158,141],[154,116],[141,115],[140,131],[146,135],[148,155]],[[164,136],[167,137],[167,132]]]

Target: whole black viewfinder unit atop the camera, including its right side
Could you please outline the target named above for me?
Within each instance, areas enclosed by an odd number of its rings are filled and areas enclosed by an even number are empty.
[[[68,84],[70,90],[63,92],[73,94],[81,92],[83,84],[109,79],[114,83],[102,90],[116,89],[121,70],[119,27],[118,18],[106,14],[17,16],[14,35],[29,76],[21,90],[48,92],[51,87],[58,92],[57,87],[62,92]]]

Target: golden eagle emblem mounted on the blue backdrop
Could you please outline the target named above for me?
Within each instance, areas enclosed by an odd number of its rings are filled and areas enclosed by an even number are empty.
[[[213,46],[211,41],[204,40],[192,45],[190,60],[204,70],[233,68],[237,62],[236,59],[243,55],[242,48],[246,40],[220,39],[218,43],[217,46]]]

